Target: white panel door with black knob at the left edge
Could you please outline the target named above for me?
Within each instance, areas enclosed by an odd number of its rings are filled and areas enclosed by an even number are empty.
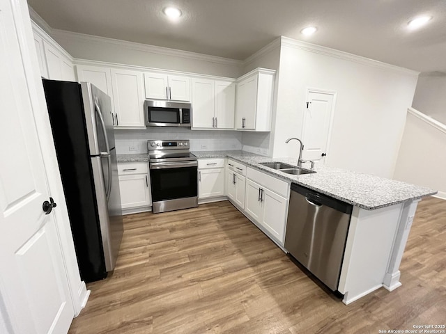
[[[6,333],[67,333],[74,310],[53,214],[43,212],[39,105],[17,8],[17,0],[0,0],[0,312]]]

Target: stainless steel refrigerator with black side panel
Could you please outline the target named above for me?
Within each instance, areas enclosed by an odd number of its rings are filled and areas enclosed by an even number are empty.
[[[123,235],[112,101],[92,84],[43,79],[82,280],[112,271]]]

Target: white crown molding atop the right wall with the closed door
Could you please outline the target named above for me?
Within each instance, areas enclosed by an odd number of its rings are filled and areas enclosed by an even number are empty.
[[[280,40],[281,40],[281,45],[283,47],[292,47],[294,49],[313,52],[315,54],[322,54],[324,56],[343,59],[344,61],[352,61],[353,63],[379,67],[385,70],[391,70],[392,72],[411,74],[414,76],[420,74],[420,72],[409,70],[408,68],[399,67],[396,65],[390,65],[387,63],[383,63],[381,61],[375,61],[374,59],[366,58],[363,56],[357,56],[356,54],[349,54],[348,52],[331,49],[330,47],[323,47],[321,45],[316,45],[309,42],[302,42],[301,40],[294,40],[293,38],[288,38],[285,36],[281,36]]]

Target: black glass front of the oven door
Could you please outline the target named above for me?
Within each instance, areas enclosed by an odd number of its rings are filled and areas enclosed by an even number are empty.
[[[197,196],[197,167],[151,169],[152,200]]]

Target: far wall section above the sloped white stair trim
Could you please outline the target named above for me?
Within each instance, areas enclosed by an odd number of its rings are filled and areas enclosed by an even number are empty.
[[[420,74],[412,106],[446,124],[446,73]]]

